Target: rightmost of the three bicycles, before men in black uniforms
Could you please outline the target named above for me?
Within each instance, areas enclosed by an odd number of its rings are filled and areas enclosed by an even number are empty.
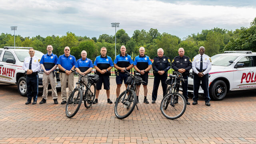
[[[170,75],[170,79],[168,79],[168,84],[170,84],[168,88],[170,89],[166,91],[169,93],[164,96],[160,104],[160,110],[162,114],[166,118],[171,120],[174,120],[182,116],[187,106],[186,99],[184,98],[184,96],[178,93],[176,90],[177,84],[180,84],[181,81],[184,82],[184,78],[182,77],[182,74],[179,72],[173,72],[173,74],[174,75]],[[168,80],[166,80],[166,82]]]

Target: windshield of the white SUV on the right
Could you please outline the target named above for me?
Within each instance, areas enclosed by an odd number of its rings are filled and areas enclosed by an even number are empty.
[[[234,61],[238,56],[227,56],[227,55],[215,55],[211,57],[212,65],[216,66],[229,66],[230,60]]]

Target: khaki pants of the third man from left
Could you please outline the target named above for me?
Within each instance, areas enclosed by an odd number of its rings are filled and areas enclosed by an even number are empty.
[[[61,98],[64,101],[67,101],[67,81],[68,81],[68,96],[74,90],[74,73],[72,72],[70,75],[66,73],[60,73],[60,84],[61,84]]]

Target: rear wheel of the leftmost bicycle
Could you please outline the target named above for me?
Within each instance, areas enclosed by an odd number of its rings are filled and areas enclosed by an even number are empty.
[[[89,94],[90,90],[86,90],[86,92],[84,94],[84,96],[85,96],[85,98],[84,98],[84,106],[86,108],[90,108],[92,106],[92,102],[94,102],[95,93],[96,93],[95,84],[90,83],[88,88],[92,91],[92,93]],[[88,94],[90,95],[89,97],[88,97]],[[88,103],[88,100],[90,101],[90,104]]]

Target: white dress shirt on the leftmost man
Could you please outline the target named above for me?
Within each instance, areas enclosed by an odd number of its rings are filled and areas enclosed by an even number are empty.
[[[24,58],[22,69],[27,71],[29,69],[30,56]],[[37,56],[32,57],[31,69],[33,72],[38,72],[41,69],[40,59]]]

